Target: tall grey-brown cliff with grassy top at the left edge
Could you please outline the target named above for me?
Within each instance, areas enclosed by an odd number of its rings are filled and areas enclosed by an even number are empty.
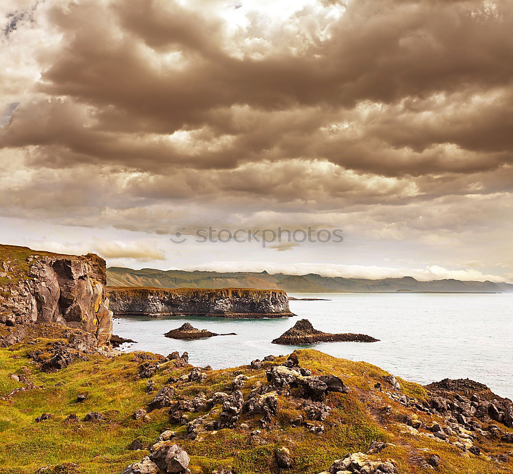
[[[57,323],[92,333],[100,345],[108,343],[112,312],[99,256],[0,245],[0,267],[0,323]]]

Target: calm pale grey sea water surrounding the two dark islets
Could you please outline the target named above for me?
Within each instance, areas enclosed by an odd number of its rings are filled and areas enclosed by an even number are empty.
[[[513,399],[513,294],[289,295],[331,301],[291,301],[290,308],[297,316],[286,319],[117,318],[114,333],[137,341],[125,345],[125,350],[164,355],[186,350],[190,363],[198,366],[234,367],[269,354],[312,347],[332,356],[370,362],[421,384],[468,377]],[[326,332],[362,332],[381,342],[271,344],[302,318]],[[237,335],[197,341],[164,337],[186,321],[199,329]]]

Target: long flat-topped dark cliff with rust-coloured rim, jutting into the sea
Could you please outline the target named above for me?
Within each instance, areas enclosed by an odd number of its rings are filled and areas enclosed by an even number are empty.
[[[247,288],[108,288],[115,315],[201,315],[221,318],[292,316],[283,290]]]

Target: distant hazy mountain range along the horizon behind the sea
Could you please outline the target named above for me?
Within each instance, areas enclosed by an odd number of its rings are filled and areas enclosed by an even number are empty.
[[[494,282],[465,282],[460,280],[434,280],[420,282],[412,277],[366,280],[362,278],[321,277],[306,275],[271,275],[266,271],[216,272],[155,270],[143,268],[110,267],[107,269],[108,286],[150,286],[156,288],[257,288],[282,289],[289,293],[510,293],[513,284]]]

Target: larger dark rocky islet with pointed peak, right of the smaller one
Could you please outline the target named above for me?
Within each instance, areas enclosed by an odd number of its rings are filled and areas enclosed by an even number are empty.
[[[377,342],[367,334],[353,334],[351,332],[330,334],[314,329],[310,321],[301,319],[293,327],[285,331],[273,344],[313,344],[316,342]]]

